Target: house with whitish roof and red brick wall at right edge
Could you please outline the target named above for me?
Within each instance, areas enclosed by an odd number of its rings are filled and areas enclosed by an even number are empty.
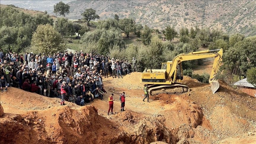
[[[244,93],[256,97],[256,88],[252,84],[247,82],[247,78],[239,80],[235,82],[233,85],[237,85],[239,88],[241,88],[241,91],[243,91]]]

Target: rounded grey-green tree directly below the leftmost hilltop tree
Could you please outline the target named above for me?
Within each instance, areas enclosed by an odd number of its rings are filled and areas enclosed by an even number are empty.
[[[58,17],[54,22],[54,28],[63,35],[74,35],[75,29],[72,22],[68,21],[64,17]]]

